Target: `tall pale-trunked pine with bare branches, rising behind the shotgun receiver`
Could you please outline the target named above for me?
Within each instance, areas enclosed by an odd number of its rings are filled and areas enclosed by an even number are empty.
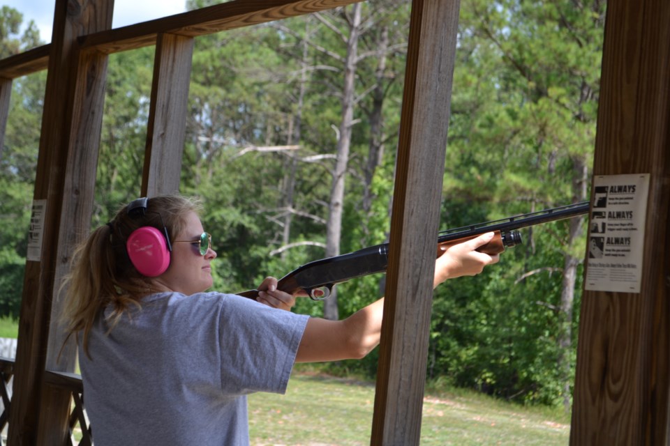
[[[363,178],[363,207],[366,211],[371,208],[371,184],[375,169],[382,162],[382,135],[385,132],[382,116],[387,79],[396,77],[395,75],[387,77],[388,73],[385,70],[387,57],[396,52],[397,47],[389,44],[389,33],[387,29],[383,31],[383,28],[388,26],[387,22],[392,21],[390,17],[398,16],[396,14],[398,8],[399,3],[395,1],[379,3],[375,8],[365,8],[362,3],[356,3],[348,8],[315,15],[325,25],[323,29],[332,33],[328,38],[322,36],[332,45],[325,47],[315,41],[311,41],[309,45],[315,47],[317,57],[323,58],[321,66],[328,68],[323,70],[325,74],[336,74],[337,78],[332,79],[329,84],[333,94],[340,98],[340,116],[337,123],[332,123],[332,127],[336,128],[336,153],[334,166],[329,169],[332,187],[327,209],[325,251],[327,257],[341,253],[345,184],[350,175],[352,146],[356,146],[357,141],[364,139],[368,141],[366,161],[362,163],[363,169],[354,170],[357,170],[356,176]],[[376,33],[375,26],[381,26],[382,32]],[[342,47],[339,47],[341,44]],[[361,52],[360,44],[366,45],[364,49],[367,51]],[[377,63],[372,69],[365,66],[369,60]],[[373,82],[368,81],[366,85],[364,79],[373,79]],[[373,98],[371,93],[374,93]],[[364,101],[370,98],[372,98],[371,107],[366,109],[363,106]],[[367,119],[363,119],[366,114]],[[357,135],[354,134],[355,126],[361,128]],[[337,293],[334,292],[331,298],[325,301],[324,316],[336,319],[339,318],[338,312]]]

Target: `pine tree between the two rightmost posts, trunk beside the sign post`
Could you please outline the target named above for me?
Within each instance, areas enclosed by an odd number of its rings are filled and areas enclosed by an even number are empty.
[[[447,194],[487,203],[490,217],[583,201],[595,139],[604,3],[530,0],[461,6],[461,39],[447,157]],[[463,167],[468,167],[463,169]],[[489,191],[493,193],[489,193]],[[522,206],[520,206],[522,204]],[[542,231],[554,231],[563,256],[554,353],[569,408],[575,288],[583,259],[583,222],[533,229],[519,285],[537,265]],[[544,238],[542,249],[549,241]],[[519,251],[519,249],[516,249]],[[509,254],[505,254],[507,257]],[[549,259],[546,259],[549,260]],[[521,286],[519,289],[524,289]]]

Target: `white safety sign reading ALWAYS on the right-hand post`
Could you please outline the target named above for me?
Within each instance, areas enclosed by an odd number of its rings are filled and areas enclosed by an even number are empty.
[[[584,288],[639,293],[649,174],[596,176],[593,187]]]

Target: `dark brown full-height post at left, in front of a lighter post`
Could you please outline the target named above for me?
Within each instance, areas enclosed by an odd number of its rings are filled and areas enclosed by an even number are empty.
[[[69,397],[63,394],[51,399],[49,408],[42,406],[42,397],[71,138],[74,48],[77,36],[110,29],[113,8],[114,2],[107,0],[56,1],[34,192],[34,200],[45,203],[42,243],[36,258],[29,258],[26,263],[15,392],[10,406],[8,443],[11,445],[40,444],[38,432],[45,410],[54,411],[52,415],[60,420],[67,417],[69,410]],[[64,435],[52,434],[47,436],[50,438],[47,444]]]

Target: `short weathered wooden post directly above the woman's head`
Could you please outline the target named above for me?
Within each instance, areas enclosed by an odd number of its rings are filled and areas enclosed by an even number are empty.
[[[143,197],[179,191],[194,42],[192,37],[158,35],[142,173]]]

